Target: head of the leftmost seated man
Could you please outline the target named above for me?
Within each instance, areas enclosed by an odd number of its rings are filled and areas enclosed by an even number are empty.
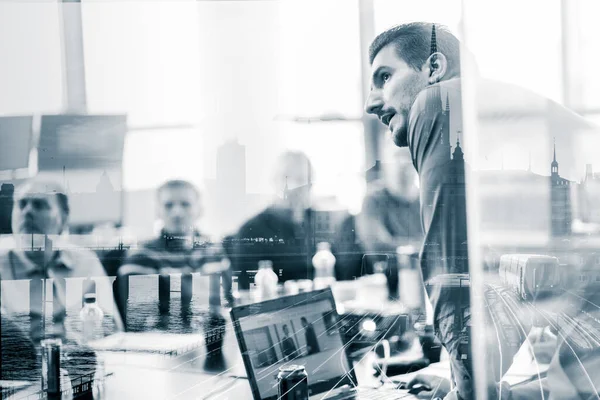
[[[13,233],[59,235],[68,226],[69,200],[59,184],[32,179],[14,194]]]

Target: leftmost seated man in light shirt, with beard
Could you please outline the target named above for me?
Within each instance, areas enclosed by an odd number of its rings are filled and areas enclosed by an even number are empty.
[[[63,368],[71,381],[93,373],[94,352],[79,347],[84,339],[79,311],[87,293],[96,292],[103,308],[103,333],[122,330],[100,261],[66,243],[68,219],[69,201],[59,185],[36,179],[15,192],[13,236],[0,250],[2,379],[38,380],[39,345],[48,337],[62,339],[70,355]]]

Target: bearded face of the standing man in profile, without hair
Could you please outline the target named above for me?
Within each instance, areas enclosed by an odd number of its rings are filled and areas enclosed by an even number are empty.
[[[408,116],[419,92],[428,85],[427,71],[415,71],[393,44],[382,48],[371,65],[371,92],[365,111],[387,125],[397,146],[408,146]]]

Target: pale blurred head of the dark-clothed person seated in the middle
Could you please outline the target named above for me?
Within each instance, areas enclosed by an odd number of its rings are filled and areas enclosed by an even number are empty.
[[[300,151],[281,154],[273,168],[273,181],[278,195],[288,197],[285,204],[291,208],[308,208],[314,170],[308,156]]]

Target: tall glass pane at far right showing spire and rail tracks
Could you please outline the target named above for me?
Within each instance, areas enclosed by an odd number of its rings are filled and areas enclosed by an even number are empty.
[[[472,2],[465,15],[466,46],[481,75],[498,79],[463,75],[473,89],[462,85],[459,122],[474,289],[469,329],[472,342],[483,338],[469,357],[487,369],[492,396],[500,379],[512,398],[595,395],[600,130],[558,101],[560,65],[579,64],[561,58],[560,3]],[[498,34],[507,20],[511,29]],[[548,68],[523,67],[532,48]],[[456,123],[451,116],[451,139]],[[546,374],[561,377],[544,383]]]

